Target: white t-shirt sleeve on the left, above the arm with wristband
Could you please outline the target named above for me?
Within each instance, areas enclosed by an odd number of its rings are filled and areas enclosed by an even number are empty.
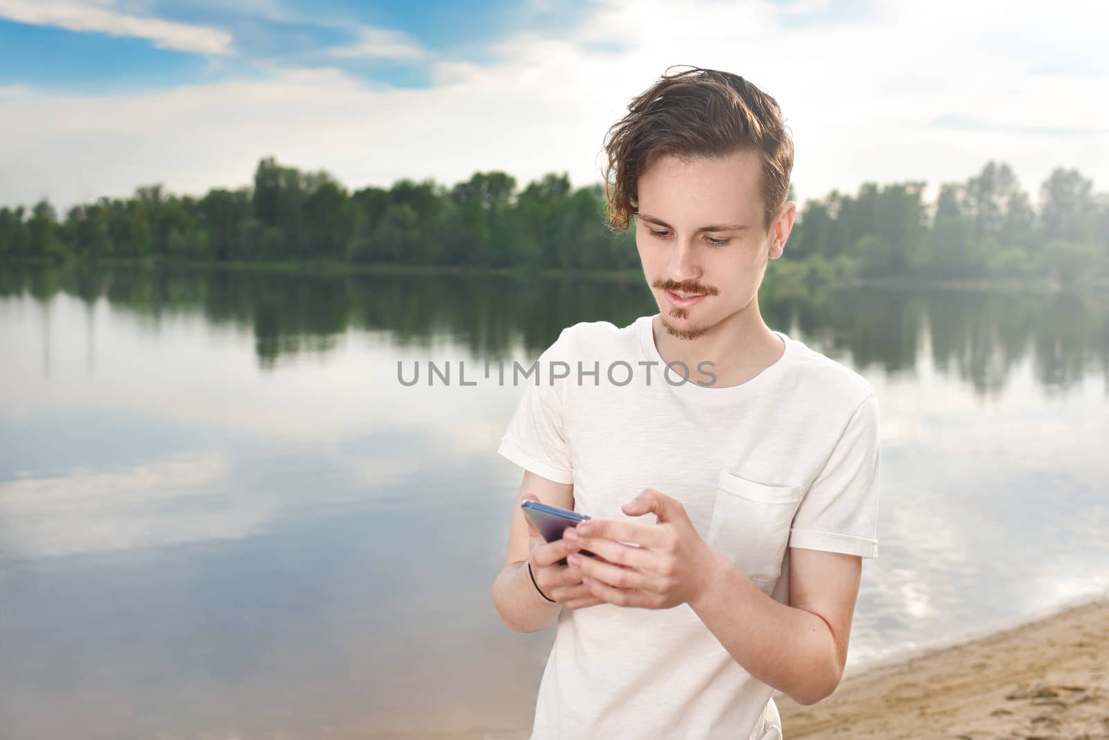
[[[521,371],[523,393],[497,449],[497,454],[556,483],[573,483],[573,465],[563,424],[563,392],[569,377],[554,379],[551,384],[552,364],[563,376],[572,368],[564,357],[566,345],[567,330],[563,329],[558,340],[540,354],[538,371],[526,380]],[[559,361],[566,364],[560,366]]]

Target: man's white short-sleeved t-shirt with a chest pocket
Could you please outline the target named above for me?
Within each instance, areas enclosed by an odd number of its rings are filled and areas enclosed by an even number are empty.
[[[517,378],[526,389],[498,453],[573,483],[574,511],[593,518],[653,524],[620,507],[645,487],[678,499],[705,542],[782,604],[788,547],[877,557],[871,386],[781,332],[783,356],[753,379],[698,384],[704,368],[667,369],[654,316],[563,329]],[[688,604],[562,609],[531,740],[779,740],[773,691]]]

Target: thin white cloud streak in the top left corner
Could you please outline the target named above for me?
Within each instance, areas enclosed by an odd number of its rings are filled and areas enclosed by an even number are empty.
[[[64,0],[0,0],[0,18],[32,25],[57,25],[70,31],[95,31],[147,39],[159,49],[202,54],[231,53],[231,34],[218,29],[140,18],[112,10],[110,2]]]

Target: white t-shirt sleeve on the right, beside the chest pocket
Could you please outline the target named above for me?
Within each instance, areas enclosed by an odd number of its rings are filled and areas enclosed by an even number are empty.
[[[878,556],[878,403],[869,393],[852,412],[824,469],[810,484],[790,546]]]

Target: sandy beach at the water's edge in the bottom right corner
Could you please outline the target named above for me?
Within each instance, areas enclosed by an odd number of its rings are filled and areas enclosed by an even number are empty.
[[[1109,740],[1109,596],[775,702],[785,740]]]

